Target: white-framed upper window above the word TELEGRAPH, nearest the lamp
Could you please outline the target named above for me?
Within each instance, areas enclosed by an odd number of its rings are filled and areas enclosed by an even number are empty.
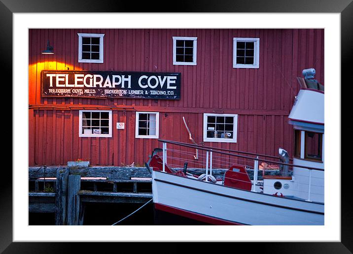
[[[102,33],[78,34],[78,63],[103,63]]]

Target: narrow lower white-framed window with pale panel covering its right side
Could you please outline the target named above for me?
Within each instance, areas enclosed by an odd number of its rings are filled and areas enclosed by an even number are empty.
[[[135,137],[159,137],[159,112],[136,112]]]

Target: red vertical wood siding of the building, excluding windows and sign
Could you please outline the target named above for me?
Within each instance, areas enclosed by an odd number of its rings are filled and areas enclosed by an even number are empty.
[[[78,63],[77,32],[105,33],[103,64]],[[198,38],[196,66],[173,65],[173,36]],[[234,37],[260,38],[258,69],[233,68]],[[47,38],[54,55],[40,54]],[[189,142],[184,116],[198,143],[203,141],[203,112],[238,114],[237,143],[206,145],[270,155],[281,146],[291,154],[287,116],[299,90],[296,77],[315,67],[324,84],[323,42],[322,29],[30,29],[29,163],[81,158],[93,165],[143,165],[160,144],[135,138],[134,110],[160,112],[160,138]],[[43,69],[181,72],[181,98],[41,98]],[[44,104],[52,108],[44,110]],[[62,107],[79,104],[114,108],[111,138],[78,137],[78,110]],[[116,129],[116,122],[124,122],[125,129]]]

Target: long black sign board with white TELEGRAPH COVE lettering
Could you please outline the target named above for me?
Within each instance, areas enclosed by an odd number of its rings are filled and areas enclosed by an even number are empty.
[[[42,97],[180,99],[181,73],[43,70]]]

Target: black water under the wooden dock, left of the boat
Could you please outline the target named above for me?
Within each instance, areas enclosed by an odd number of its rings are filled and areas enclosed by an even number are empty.
[[[143,204],[86,203],[83,225],[111,225],[120,221]],[[29,213],[30,225],[55,225],[54,213]],[[142,207],[117,225],[154,225],[153,203]]]

